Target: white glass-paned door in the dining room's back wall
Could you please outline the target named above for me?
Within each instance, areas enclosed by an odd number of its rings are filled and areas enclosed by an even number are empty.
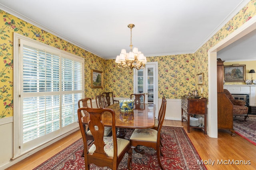
[[[145,103],[155,104],[158,114],[158,62],[148,62],[140,70],[134,69],[134,93],[145,94]],[[143,98],[141,98],[143,101]]]

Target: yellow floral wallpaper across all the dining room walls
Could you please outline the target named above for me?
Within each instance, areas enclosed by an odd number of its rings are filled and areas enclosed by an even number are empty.
[[[158,61],[158,95],[176,99],[189,90],[198,89],[200,92],[203,88],[203,96],[208,97],[208,49],[254,17],[255,12],[256,0],[251,0],[194,54],[148,57],[148,62]],[[119,69],[114,60],[104,60],[0,10],[0,118],[13,116],[14,32],[83,57],[86,97],[94,99],[104,91],[113,91],[115,97],[128,97],[133,92],[132,70]],[[90,88],[91,69],[104,72],[102,89]],[[204,85],[197,83],[197,74],[200,73],[204,73]]]

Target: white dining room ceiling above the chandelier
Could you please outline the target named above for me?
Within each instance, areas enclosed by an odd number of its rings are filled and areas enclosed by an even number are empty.
[[[0,9],[104,59],[196,52],[250,0],[0,0]],[[218,57],[219,58],[219,57]]]

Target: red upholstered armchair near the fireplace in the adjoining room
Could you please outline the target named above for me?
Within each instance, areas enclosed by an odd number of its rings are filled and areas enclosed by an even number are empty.
[[[244,100],[234,99],[227,89],[224,89],[224,93],[233,104],[233,116],[244,116],[244,121],[246,121],[246,118],[248,117],[248,107],[245,106]]]

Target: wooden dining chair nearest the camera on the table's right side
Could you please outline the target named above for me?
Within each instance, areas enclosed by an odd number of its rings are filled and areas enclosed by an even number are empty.
[[[138,145],[143,145],[146,147],[150,147],[153,149],[156,149],[158,164],[160,165],[160,168],[163,170],[163,166],[161,164],[160,160],[160,154],[163,155],[161,146],[160,146],[160,133],[161,128],[164,122],[164,116],[166,111],[166,99],[163,101],[163,107],[160,113],[160,118],[158,121],[158,129],[135,129],[130,137],[130,143],[131,146],[134,147],[134,149],[138,149]]]

